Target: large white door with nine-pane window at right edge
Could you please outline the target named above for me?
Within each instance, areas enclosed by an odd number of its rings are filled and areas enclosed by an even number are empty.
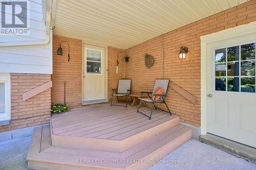
[[[255,42],[207,45],[206,130],[256,148]]]

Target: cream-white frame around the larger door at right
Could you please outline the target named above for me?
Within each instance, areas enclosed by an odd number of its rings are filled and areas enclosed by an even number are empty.
[[[227,40],[230,38],[237,38],[248,36],[256,33],[256,21],[247,23],[245,25],[237,26],[234,28],[226,29],[217,33],[201,36],[201,135],[207,133],[207,117],[206,117],[206,56],[207,44]]]

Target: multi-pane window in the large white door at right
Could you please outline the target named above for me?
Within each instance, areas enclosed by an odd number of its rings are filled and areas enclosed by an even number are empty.
[[[255,42],[215,50],[215,90],[255,93]]]

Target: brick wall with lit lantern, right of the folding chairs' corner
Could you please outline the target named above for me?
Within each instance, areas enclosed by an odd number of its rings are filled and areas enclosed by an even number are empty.
[[[256,1],[249,1],[215,15],[190,23],[164,34],[164,78],[170,79],[197,98],[194,105],[170,89],[167,104],[182,122],[200,126],[200,36],[236,27],[256,20]],[[185,60],[179,60],[181,46],[188,47]],[[125,50],[130,57],[126,78],[132,79],[132,90],[152,90],[155,79],[162,78],[162,37],[158,36]],[[144,54],[151,54],[157,64],[151,69],[144,65]]]

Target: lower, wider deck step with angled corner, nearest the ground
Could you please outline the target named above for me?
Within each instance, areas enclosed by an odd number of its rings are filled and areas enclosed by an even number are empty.
[[[58,170],[147,169],[191,136],[191,128],[176,125],[125,151],[106,152],[52,146],[50,126],[42,126],[34,129],[27,156],[28,167]]]

